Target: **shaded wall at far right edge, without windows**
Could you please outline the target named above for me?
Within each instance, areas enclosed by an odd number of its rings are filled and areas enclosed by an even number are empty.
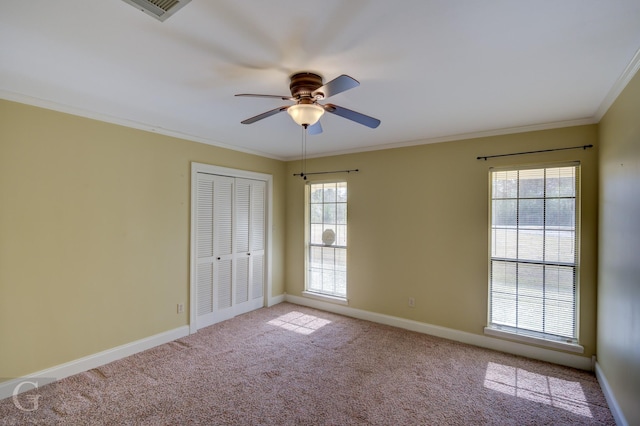
[[[598,364],[640,424],[640,74],[600,122]]]

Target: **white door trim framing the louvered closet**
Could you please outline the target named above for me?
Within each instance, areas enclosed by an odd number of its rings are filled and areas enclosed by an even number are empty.
[[[191,162],[191,212],[190,212],[190,238],[189,238],[189,333],[193,334],[198,330],[197,327],[197,291],[196,291],[196,212],[197,212],[197,176],[198,173],[206,173],[219,176],[227,176],[232,178],[244,178],[259,180],[266,183],[266,199],[265,199],[265,288],[263,306],[271,306],[276,302],[271,301],[272,287],[272,229],[273,229],[273,176],[266,173],[252,172],[249,170],[232,169],[228,167],[215,166],[212,164],[204,164]]]

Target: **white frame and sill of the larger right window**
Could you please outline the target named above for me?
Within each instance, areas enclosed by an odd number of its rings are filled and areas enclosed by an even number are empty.
[[[575,167],[575,241],[574,241],[574,337],[566,338],[561,336],[554,336],[550,334],[544,333],[536,333],[535,331],[529,331],[526,329],[518,329],[510,326],[503,326],[499,324],[492,323],[492,261],[494,259],[501,259],[497,256],[493,256],[493,228],[494,228],[494,218],[493,218],[493,174],[495,172],[521,172],[526,170],[539,170],[539,169],[554,169],[554,168],[562,168],[562,167]],[[488,196],[488,285],[487,285],[487,326],[484,328],[484,333],[490,336],[506,338],[510,340],[515,340],[523,343],[535,344],[539,346],[545,346],[555,349],[561,349],[569,352],[576,353],[584,353],[584,347],[579,343],[580,337],[580,245],[581,245],[581,164],[579,161],[571,161],[571,162],[560,162],[560,163],[542,163],[542,164],[529,164],[529,165],[517,165],[517,166],[504,166],[504,167],[492,167],[489,169],[488,173],[488,185],[489,185],[489,196]],[[518,177],[518,181],[520,177]],[[547,197],[546,192],[543,199],[552,198]],[[519,199],[526,199],[525,197]],[[545,224],[546,226],[546,224]],[[518,262],[517,258],[514,258],[514,262],[527,263],[527,262]],[[547,262],[546,260],[542,260],[539,262],[534,262],[540,265],[553,265],[555,263],[560,262]],[[517,315],[517,313],[516,313]]]

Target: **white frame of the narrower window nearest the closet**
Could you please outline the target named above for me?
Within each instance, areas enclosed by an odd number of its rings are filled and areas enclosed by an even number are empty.
[[[312,228],[312,221],[311,221],[311,204],[312,204],[312,200],[311,200],[311,189],[313,185],[326,185],[326,184],[344,184],[347,187],[347,200],[345,201],[346,204],[346,217],[345,217],[345,227],[348,229],[348,216],[349,216],[349,208],[348,208],[348,203],[349,203],[349,190],[348,190],[348,182],[346,180],[313,180],[313,181],[308,181],[305,182],[305,236],[304,236],[304,290],[302,292],[302,294],[306,297],[309,298],[313,298],[313,299],[318,299],[318,300],[323,300],[323,301],[328,301],[328,302],[332,302],[332,303],[338,303],[338,304],[343,304],[343,305],[348,305],[348,291],[349,291],[349,286],[348,286],[348,269],[347,269],[347,265],[348,265],[348,237],[345,237],[345,245],[338,245],[337,241],[335,244],[332,245],[333,248],[335,249],[343,249],[345,254],[345,293],[344,295],[341,294],[336,294],[336,293],[331,293],[331,292],[323,292],[323,291],[319,291],[317,289],[311,289],[310,288],[310,251],[311,251],[311,247],[317,247],[319,246],[318,244],[312,244],[311,243],[311,228]],[[336,204],[338,202],[336,201]],[[324,204],[324,203],[322,203]],[[324,222],[323,222],[324,223]],[[348,232],[348,231],[347,231]]]

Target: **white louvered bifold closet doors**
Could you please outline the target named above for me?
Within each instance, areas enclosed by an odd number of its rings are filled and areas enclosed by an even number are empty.
[[[197,174],[197,328],[264,306],[266,183]]]

